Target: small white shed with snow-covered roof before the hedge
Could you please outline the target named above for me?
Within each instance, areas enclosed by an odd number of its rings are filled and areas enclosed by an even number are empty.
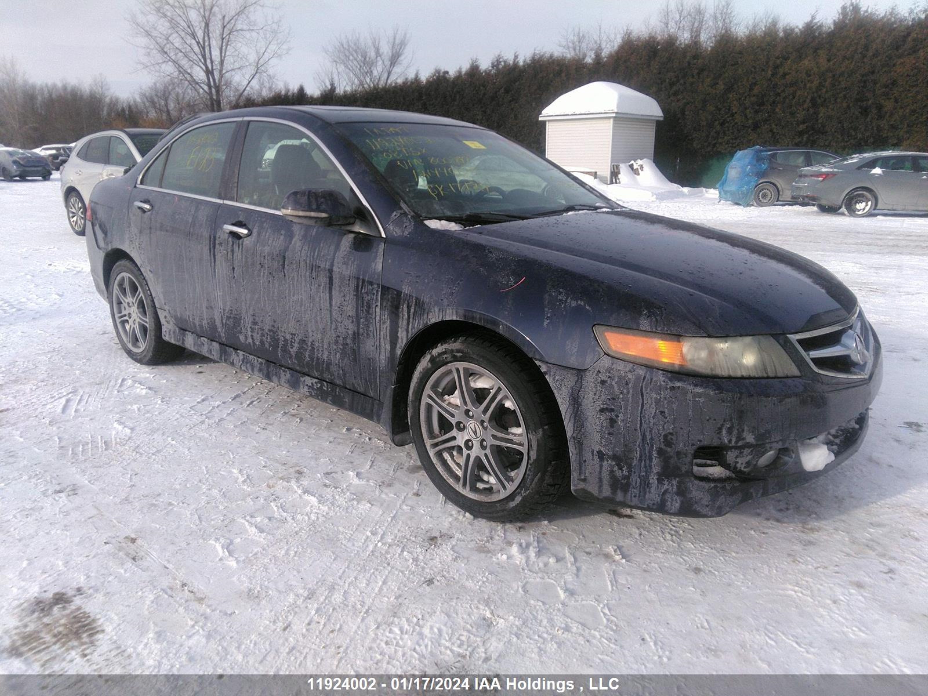
[[[664,112],[648,95],[600,82],[561,95],[538,119],[546,123],[548,160],[608,182],[613,163],[654,159],[654,126]]]

